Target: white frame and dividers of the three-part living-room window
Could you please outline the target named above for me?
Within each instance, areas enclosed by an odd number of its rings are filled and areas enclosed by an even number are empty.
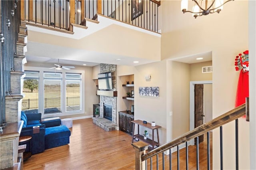
[[[85,98],[84,98],[84,88],[85,88],[85,71],[84,70],[75,70],[75,69],[70,69],[70,70],[54,70],[54,69],[49,69],[45,67],[31,67],[31,66],[26,66],[25,70],[28,71],[39,71],[39,85],[43,86],[44,85],[44,72],[58,72],[62,73],[62,113],[52,113],[48,115],[44,115],[44,88],[39,88],[38,91],[38,113],[42,113],[42,118],[47,118],[47,117],[59,117],[59,116],[67,116],[67,115],[77,115],[77,114],[86,114],[85,113]],[[66,79],[63,78],[65,77],[66,73],[80,73],[82,76],[82,83],[81,83],[81,111],[74,111],[74,112],[66,112]]]

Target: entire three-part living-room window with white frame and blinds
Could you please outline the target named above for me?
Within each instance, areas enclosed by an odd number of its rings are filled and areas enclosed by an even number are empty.
[[[43,117],[84,113],[84,71],[38,69],[25,71],[22,111],[43,113]]]

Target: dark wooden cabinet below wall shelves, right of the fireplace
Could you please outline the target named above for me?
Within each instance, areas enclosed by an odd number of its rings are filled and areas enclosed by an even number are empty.
[[[133,135],[133,123],[134,115],[131,111],[120,111],[119,112],[119,130],[122,130],[130,135]]]

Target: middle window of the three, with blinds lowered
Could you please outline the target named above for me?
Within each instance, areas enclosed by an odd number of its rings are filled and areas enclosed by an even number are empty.
[[[44,114],[62,113],[62,73],[44,72]]]

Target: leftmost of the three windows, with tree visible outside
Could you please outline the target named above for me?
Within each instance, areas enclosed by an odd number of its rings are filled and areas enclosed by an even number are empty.
[[[39,71],[26,71],[23,81],[22,111],[38,112]]]

